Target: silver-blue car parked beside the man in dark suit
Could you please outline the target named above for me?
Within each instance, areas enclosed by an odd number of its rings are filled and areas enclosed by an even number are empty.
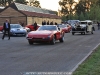
[[[10,35],[23,35],[26,36],[27,30],[24,29],[20,24],[10,24]]]

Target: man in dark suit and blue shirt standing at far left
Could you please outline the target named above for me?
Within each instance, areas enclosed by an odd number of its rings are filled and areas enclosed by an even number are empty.
[[[4,33],[3,33],[3,36],[2,36],[2,39],[5,38],[5,35],[6,35],[6,32],[8,34],[8,40],[10,40],[10,23],[8,22],[8,20],[6,19],[4,24],[3,24],[3,30],[4,30]]]

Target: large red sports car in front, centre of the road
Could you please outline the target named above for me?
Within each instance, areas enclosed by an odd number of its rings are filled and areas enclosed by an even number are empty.
[[[39,27],[36,31],[31,31],[26,36],[29,44],[48,42],[55,44],[56,40],[64,42],[64,31],[59,29],[56,25],[44,25]]]

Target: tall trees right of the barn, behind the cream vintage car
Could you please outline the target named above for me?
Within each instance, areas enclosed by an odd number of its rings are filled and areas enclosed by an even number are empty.
[[[100,20],[100,0],[60,0],[62,20]]]

